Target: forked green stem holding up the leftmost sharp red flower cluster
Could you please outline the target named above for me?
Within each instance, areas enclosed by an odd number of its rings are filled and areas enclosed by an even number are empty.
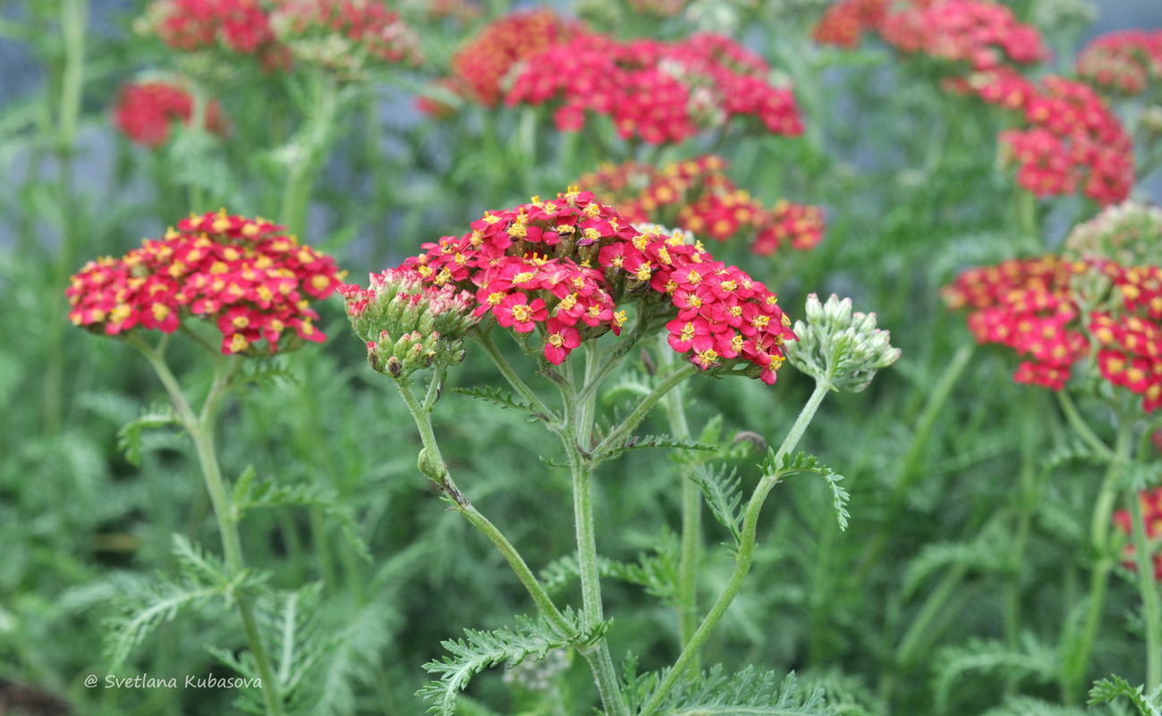
[[[210,502],[214,506],[214,516],[217,519],[218,534],[222,538],[222,554],[225,558],[227,569],[231,580],[237,579],[246,571],[245,559],[242,552],[242,537],[238,533],[238,515],[234,502],[225,490],[225,482],[222,478],[222,469],[218,465],[217,451],[214,447],[214,417],[217,402],[229,390],[230,376],[237,370],[237,360],[218,359],[215,363],[214,382],[206,403],[202,405],[201,414],[195,415],[188,400],[178,384],[178,379],[170,370],[168,364],[160,353],[149,346],[138,337],[132,337],[130,342],[141,350],[145,359],[153,367],[158,377],[165,385],[166,391],[173,403],[179,419],[185,426],[189,436],[194,441],[198,453],[198,462],[202,470],[202,478],[206,482],[206,491],[209,493]],[[242,630],[250,646],[250,653],[254,659],[254,667],[261,679],[263,701],[266,706],[267,716],[282,716],[282,699],[280,694],[280,681],[275,677],[263,637],[258,628],[258,619],[254,616],[254,607],[246,588],[231,592],[234,603],[242,619]]]

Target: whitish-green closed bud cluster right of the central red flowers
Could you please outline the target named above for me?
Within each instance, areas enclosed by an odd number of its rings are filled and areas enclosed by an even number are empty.
[[[826,303],[811,294],[805,320],[795,321],[798,341],[787,345],[787,359],[816,381],[835,390],[860,392],[880,370],[899,360],[891,334],[876,327],[875,313],[852,310],[852,299],[834,294]]]

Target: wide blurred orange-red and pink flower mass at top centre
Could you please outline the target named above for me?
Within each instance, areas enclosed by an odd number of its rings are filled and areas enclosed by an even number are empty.
[[[590,115],[648,144],[680,143],[739,117],[776,135],[803,131],[794,94],[770,82],[766,62],[715,34],[623,42],[548,9],[524,10],[487,26],[452,66],[443,87],[487,107],[550,107],[561,131],[580,130]]]

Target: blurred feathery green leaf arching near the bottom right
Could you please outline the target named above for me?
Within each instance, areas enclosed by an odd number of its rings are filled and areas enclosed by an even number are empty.
[[[1056,649],[1031,634],[1021,635],[1018,649],[988,639],[971,639],[963,646],[945,649],[937,659],[933,685],[938,711],[945,711],[953,685],[968,671],[1018,679],[1035,677],[1050,682],[1061,671],[1061,658]]]

